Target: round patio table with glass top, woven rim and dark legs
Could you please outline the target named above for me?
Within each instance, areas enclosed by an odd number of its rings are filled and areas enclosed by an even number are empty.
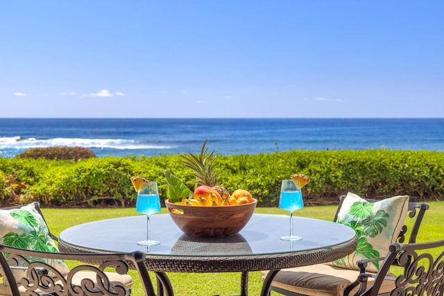
[[[150,217],[151,238],[160,245],[142,246],[146,216],[112,218],[69,227],[60,233],[62,252],[133,252],[147,254],[146,267],[167,281],[164,272],[242,272],[241,295],[248,293],[248,272],[271,270],[261,295],[267,295],[273,277],[282,268],[324,263],[355,251],[357,239],[350,227],[312,218],[293,218],[301,241],[282,241],[289,232],[289,216],[253,214],[233,236],[188,236],[169,214]],[[164,287],[172,295],[171,284]]]

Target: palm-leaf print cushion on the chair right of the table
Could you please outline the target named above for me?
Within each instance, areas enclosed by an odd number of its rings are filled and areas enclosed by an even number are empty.
[[[354,253],[333,261],[332,265],[341,268],[359,270],[356,262],[361,259],[372,259],[385,256],[388,246],[396,241],[404,225],[409,196],[398,195],[377,202],[368,202],[354,193],[348,193],[336,223],[352,227],[358,238]],[[368,265],[369,272],[377,272],[379,263]]]

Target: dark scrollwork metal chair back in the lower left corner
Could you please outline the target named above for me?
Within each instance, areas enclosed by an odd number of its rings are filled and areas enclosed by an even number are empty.
[[[3,295],[115,295],[130,294],[132,278],[128,270],[137,270],[144,295],[155,295],[142,252],[120,254],[71,254],[23,250],[0,244]],[[67,274],[49,262],[78,261]],[[84,262],[84,263],[80,263]],[[106,269],[106,270],[105,270]],[[86,276],[87,275],[87,276]],[[122,279],[122,281],[121,281]],[[126,281],[123,281],[125,279]],[[129,279],[129,281],[128,281]],[[6,289],[5,289],[6,288]],[[2,294],[2,293],[0,293]]]

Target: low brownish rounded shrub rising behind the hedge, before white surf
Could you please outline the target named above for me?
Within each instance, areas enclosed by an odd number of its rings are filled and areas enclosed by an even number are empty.
[[[61,160],[75,160],[96,157],[92,150],[83,147],[45,147],[32,148],[20,153],[18,158],[44,158],[44,159],[61,159]]]

